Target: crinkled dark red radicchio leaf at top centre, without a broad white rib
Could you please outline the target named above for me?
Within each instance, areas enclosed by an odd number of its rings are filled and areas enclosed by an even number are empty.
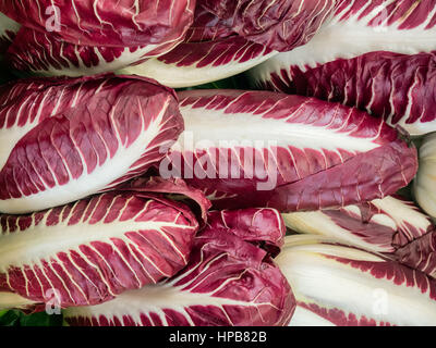
[[[307,42],[334,5],[334,0],[198,0],[233,32],[277,51]]]

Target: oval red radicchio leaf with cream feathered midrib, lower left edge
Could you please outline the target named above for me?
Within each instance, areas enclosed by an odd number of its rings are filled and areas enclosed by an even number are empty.
[[[60,307],[101,303],[172,276],[198,227],[183,204],[134,192],[0,223],[0,290]]]

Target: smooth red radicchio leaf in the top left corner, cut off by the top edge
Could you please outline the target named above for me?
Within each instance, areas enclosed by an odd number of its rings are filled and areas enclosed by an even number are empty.
[[[26,27],[51,30],[75,45],[107,47],[178,42],[192,24],[194,7],[193,0],[0,1],[0,11]]]

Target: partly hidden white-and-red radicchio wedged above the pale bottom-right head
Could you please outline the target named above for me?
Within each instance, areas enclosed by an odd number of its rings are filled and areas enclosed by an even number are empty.
[[[293,232],[316,234],[436,275],[436,227],[413,202],[386,197],[340,210],[283,214]]]

